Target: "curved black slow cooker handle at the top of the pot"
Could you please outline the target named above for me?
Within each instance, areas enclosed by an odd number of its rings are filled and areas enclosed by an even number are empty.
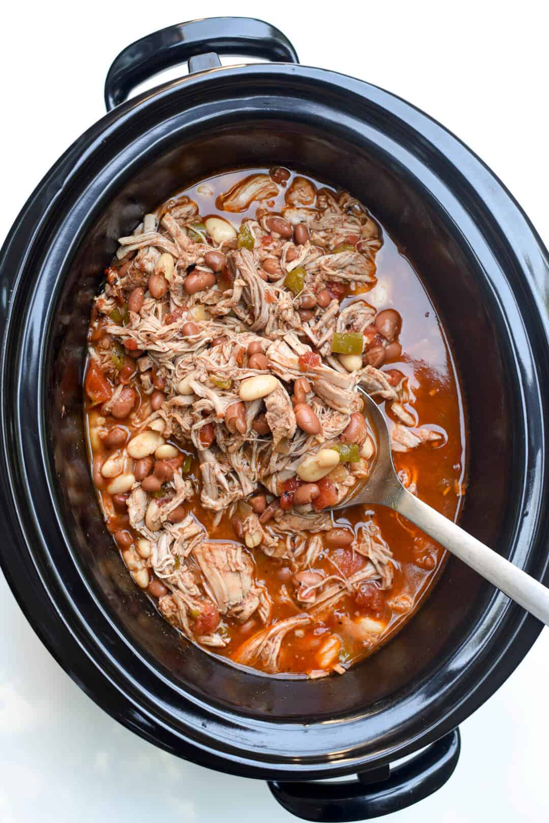
[[[189,72],[221,66],[218,54],[241,55],[299,63],[290,40],[280,30],[254,17],[210,17],[168,26],[123,49],[105,80],[107,111],[123,103],[135,86],[180,63]],[[206,58],[196,62],[199,56]]]

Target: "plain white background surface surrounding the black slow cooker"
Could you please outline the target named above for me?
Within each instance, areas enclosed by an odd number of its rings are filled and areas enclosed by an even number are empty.
[[[263,16],[301,63],[387,88],[440,120],[504,180],[546,243],[547,23],[541,2],[14,2],[2,11],[0,239],[32,188],[99,119],[114,56],[204,14]],[[175,77],[178,72],[170,72]],[[69,680],[0,574],[0,823],[291,821],[264,783],[177,760]],[[439,793],[398,823],[547,821],[549,632],[463,723]]]

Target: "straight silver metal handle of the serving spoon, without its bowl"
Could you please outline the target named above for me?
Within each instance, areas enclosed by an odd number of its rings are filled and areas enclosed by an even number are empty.
[[[536,616],[545,625],[549,625],[549,588],[530,577],[518,566],[510,563],[485,546],[484,543],[463,531],[443,514],[431,509],[429,505],[418,500],[409,491],[402,488],[403,494],[394,500],[393,507],[412,523],[416,523],[423,532],[439,542],[463,560],[482,577],[510,597],[514,602]]]

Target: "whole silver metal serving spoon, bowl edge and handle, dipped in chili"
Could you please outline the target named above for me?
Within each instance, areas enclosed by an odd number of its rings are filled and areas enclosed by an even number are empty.
[[[459,528],[444,514],[419,500],[402,486],[398,479],[391,453],[388,426],[377,403],[359,388],[365,402],[365,412],[370,417],[377,440],[378,451],[368,480],[354,495],[345,498],[332,510],[348,505],[381,504],[394,509],[411,520],[421,531],[463,560],[482,577],[494,584],[514,602],[549,625],[549,588],[530,577],[518,566],[505,560],[496,551],[485,546],[476,537]]]

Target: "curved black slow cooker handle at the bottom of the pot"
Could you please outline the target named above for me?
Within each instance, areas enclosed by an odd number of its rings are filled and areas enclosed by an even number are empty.
[[[366,821],[412,806],[436,792],[452,776],[460,751],[459,730],[431,743],[411,760],[397,766],[386,779],[372,783],[368,772],[342,783],[269,781],[282,807],[305,821]]]

